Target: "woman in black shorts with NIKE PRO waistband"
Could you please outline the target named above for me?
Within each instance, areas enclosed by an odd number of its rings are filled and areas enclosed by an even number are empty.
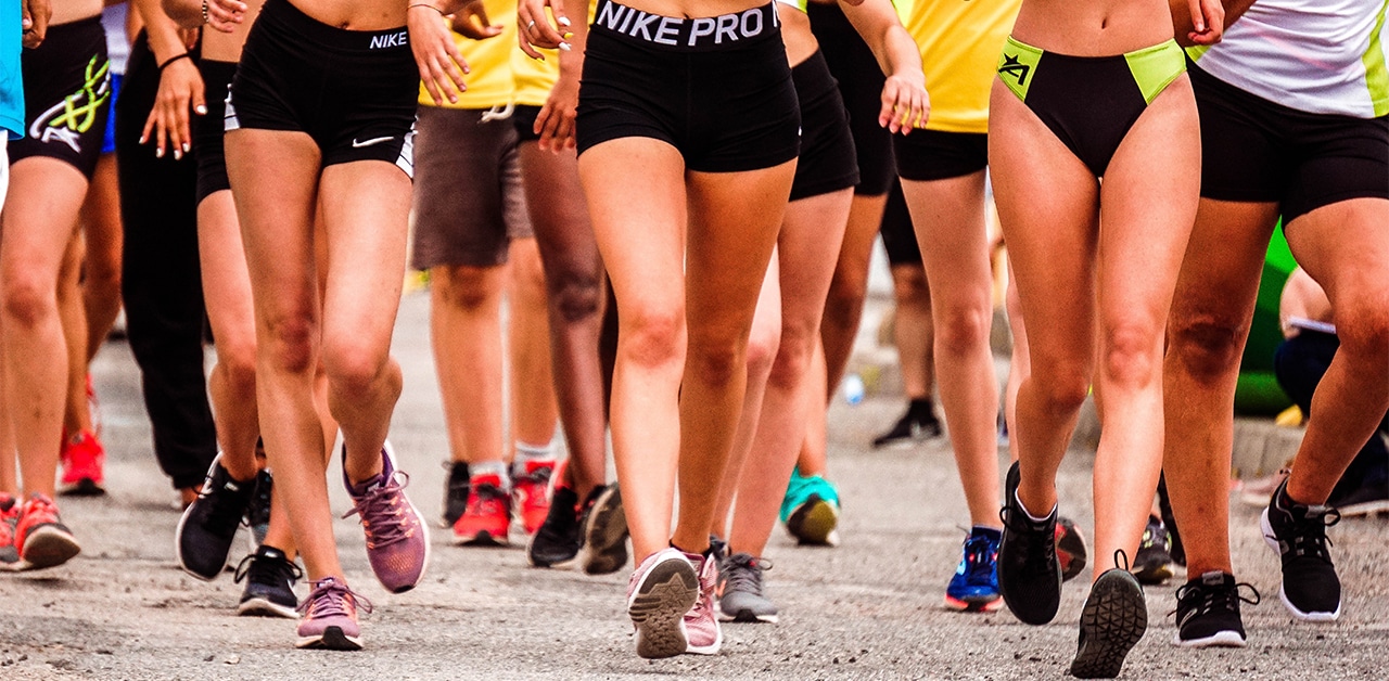
[[[551,22],[547,4],[518,10],[531,55],[585,31],[563,8]],[[708,531],[800,115],[770,4],[683,0],[667,17],[633,4],[603,0],[582,36],[576,144],[621,325],[611,420],[638,560],[628,612],[638,655],[668,657],[721,644]]]

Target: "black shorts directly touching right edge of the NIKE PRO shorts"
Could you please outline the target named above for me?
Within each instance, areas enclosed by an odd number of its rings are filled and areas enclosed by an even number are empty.
[[[800,161],[790,200],[828,194],[858,184],[854,137],[835,76],[818,51],[790,69],[800,100]]]

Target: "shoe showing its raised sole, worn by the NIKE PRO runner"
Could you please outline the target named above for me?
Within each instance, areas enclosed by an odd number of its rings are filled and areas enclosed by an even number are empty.
[[[639,657],[674,657],[689,648],[685,613],[699,599],[699,574],[685,553],[663,549],[646,556],[626,583],[626,614],[636,627]]]

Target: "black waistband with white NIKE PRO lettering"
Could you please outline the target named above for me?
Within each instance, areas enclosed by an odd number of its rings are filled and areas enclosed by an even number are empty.
[[[275,1],[275,0],[271,0]],[[675,51],[729,50],[781,37],[775,3],[718,17],[663,17],[599,0],[593,28]]]

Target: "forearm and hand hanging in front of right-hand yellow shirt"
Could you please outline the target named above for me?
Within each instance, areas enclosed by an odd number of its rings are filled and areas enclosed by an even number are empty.
[[[897,10],[889,0],[865,0],[857,6],[846,1],[843,10],[888,76],[878,125],[895,133],[922,128],[931,115],[931,97],[921,71],[921,50],[901,28]]]

